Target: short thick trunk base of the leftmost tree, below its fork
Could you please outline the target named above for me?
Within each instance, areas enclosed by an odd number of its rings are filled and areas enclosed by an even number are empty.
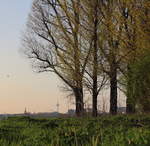
[[[74,89],[75,102],[76,102],[76,116],[81,117],[84,113],[84,103],[83,103],[83,89],[75,88]]]

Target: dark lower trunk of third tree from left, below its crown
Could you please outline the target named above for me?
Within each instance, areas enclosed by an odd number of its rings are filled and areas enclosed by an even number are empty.
[[[117,66],[115,59],[110,73],[110,114],[117,114]]]

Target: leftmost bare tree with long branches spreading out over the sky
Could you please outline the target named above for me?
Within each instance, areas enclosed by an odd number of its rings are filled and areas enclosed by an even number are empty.
[[[54,72],[72,89],[77,116],[84,111],[83,75],[91,44],[80,11],[78,0],[34,0],[23,37],[24,52],[38,72]]]

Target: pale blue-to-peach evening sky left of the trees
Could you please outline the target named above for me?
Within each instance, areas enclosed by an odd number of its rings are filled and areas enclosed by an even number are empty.
[[[0,114],[67,110],[60,80],[50,73],[32,71],[29,60],[19,53],[32,0],[2,0],[0,4]]]

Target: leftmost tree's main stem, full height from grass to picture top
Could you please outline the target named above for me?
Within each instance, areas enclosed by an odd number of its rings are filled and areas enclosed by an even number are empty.
[[[83,85],[82,85],[82,74],[81,74],[81,63],[80,63],[80,52],[79,49],[79,38],[78,38],[78,32],[79,32],[79,6],[80,6],[80,0],[77,2],[74,2],[74,15],[75,15],[75,24],[74,24],[74,30],[73,30],[73,36],[74,36],[74,65],[75,65],[75,84],[76,88],[74,89],[75,99],[76,99],[76,115],[82,116],[84,112],[84,102],[83,102]]]

